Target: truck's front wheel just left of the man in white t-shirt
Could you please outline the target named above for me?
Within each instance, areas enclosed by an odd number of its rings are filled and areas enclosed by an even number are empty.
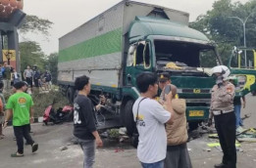
[[[133,103],[134,103],[133,100],[129,100],[127,105],[125,106],[125,111],[124,111],[125,112],[124,123],[128,130],[128,136],[132,136],[132,133],[136,129],[135,122],[133,120],[133,113],[132,113]]]

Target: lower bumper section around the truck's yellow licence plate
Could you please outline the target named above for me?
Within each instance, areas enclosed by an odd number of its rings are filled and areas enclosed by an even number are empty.
[[[185,112],[188,122],[202,121],[209,117],[209,106],[186,106]]]

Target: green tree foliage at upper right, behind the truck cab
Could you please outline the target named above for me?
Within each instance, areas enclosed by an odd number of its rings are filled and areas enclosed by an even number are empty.
[[[256,48],[256,0],[250,0],[244,5],[231,0],[219,0],[213,4],[213,9],[206,15],[199,16],[190,26],[204,32],[218,44],[218,51],[225,64],[228,63],[232,46],[243,46],[242,22],[230,18],[238,17],[246,21],[246,46]]]

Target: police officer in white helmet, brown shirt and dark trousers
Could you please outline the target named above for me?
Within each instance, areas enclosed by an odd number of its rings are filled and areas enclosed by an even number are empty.
[[[216,76],[216,85],[212,88],[209,125],[212,125],[214,116],[215,127],[223,149],[222,163],[216,164],[215,168],[235,168],[235,114],[233,112],[234,86],[226,81],[230,75],[230,69],[225,65],[212,68]]]

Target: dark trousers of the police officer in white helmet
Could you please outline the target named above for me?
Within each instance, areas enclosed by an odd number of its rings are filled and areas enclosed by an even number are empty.
[[[223,149],[223,163],[229,168],[236,167],[235,114],[234,112],[214,115],[215,127]]]

